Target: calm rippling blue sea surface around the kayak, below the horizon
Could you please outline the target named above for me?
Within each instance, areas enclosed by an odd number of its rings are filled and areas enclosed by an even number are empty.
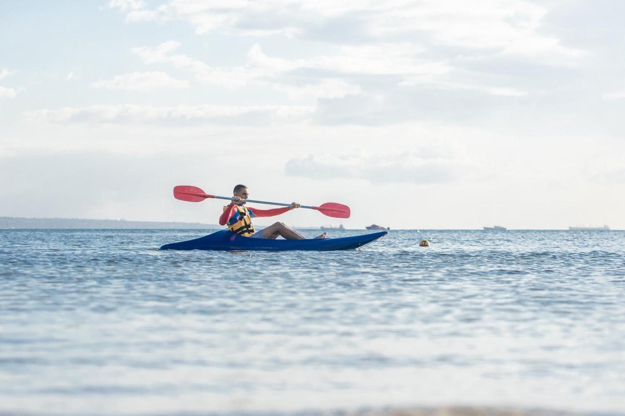
[[[204,234],[0,230],[0,413],[625,409],[625,232],[158,251]]]

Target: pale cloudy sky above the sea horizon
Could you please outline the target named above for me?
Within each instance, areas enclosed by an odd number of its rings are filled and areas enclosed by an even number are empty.
[[[625,2],[0,2],[0,216],[625,229]],[[269,206],[262,206],[268,208]],[[263,219],[270,224],[273,219]]]

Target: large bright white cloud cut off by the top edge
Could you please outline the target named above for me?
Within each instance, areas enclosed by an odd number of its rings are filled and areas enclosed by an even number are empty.
[[[579,57],[582,52],[562,46],[544,34],[542,21],[549,9],[527,0],[437,1],[336,1],[236,0],[227,3],[204,0],[170,0],[154,9],[130,7],[128,21],[186,21],[196,32],[240,36],[284,34],[318,36],[327,22],[339,22],[361,41],[414,39],[467,49],[496,49],[494,53],[531,58]],[[350,27],[351,26],[351,27]],[[334,36],[340,36],[340,31]],[[323,33],[329,41],[332,33]]]

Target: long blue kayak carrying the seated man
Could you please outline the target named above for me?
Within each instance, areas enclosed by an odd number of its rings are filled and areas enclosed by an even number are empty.
[[[165,244],[161,250],[264,250],[264,251],[290,251],[290,250],[354,250],[369,244],[372,241],[384,237],[387,231],[374,232],[372,234],[353,235],[338,239],[306,239],[306,240],[271,240],[252,239],[234,234],[228,230],[217,231],[200,237],[178,243]]]

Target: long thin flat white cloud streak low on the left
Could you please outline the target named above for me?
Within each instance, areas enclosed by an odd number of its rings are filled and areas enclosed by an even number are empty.
[[[27,121],[51,123],[143,123],[143,122],[210,122],[270,124],[298,122],[309,117],[314,107],[302,106],[176,106],[154,107],[134,104],[63,107],[25,112]]]

